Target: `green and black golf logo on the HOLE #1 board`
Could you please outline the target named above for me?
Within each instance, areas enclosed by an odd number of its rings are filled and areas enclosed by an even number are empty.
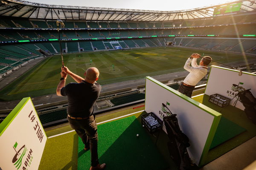
[[[26,145],[24,144],[22,147],[20,147],[20,149],[17,149],[18,143],[15,142],[13,149],[15,150],[16,154],[12,159],[12,163],[14,163],[15,168],[17,168],[17,170],[20,168],[20,166],[23,164],[22,170],[27,170],[28,166],[30,167],[30,164],[32,162],[33,157],[32,155],[32,149],[29,150],[29,152],[26,154],[26,152],[28,151]],[[24,158],[24,156],[26,155],[26,157]],[[25,160],[25,162],[23,163],[23,158]]]

